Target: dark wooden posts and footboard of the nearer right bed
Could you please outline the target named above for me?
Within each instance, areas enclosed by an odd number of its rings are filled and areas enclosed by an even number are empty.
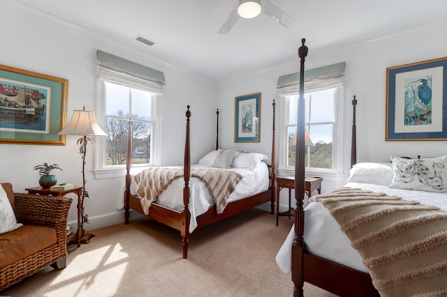
[[[318,257],[306,250],[304,242],[305,211],[305,158],[298,158],[305,152],[305,58],[307,46],[305,38],[298,50],[300,57],[300,99],[298,102],[297,126],[297,158],[295,158],[295,238],[292,245],[292,281],[294,284],[293,296],[303,296],[302,287],[305,282],[321,287],[339,296],[378,296],[372,286],[369,274],[356,271],[322,257]],[[353,138],[351,148],[351,163],[356,162],[356,104],[353,100]],[[353,165],[353,164],[351,164]]]

